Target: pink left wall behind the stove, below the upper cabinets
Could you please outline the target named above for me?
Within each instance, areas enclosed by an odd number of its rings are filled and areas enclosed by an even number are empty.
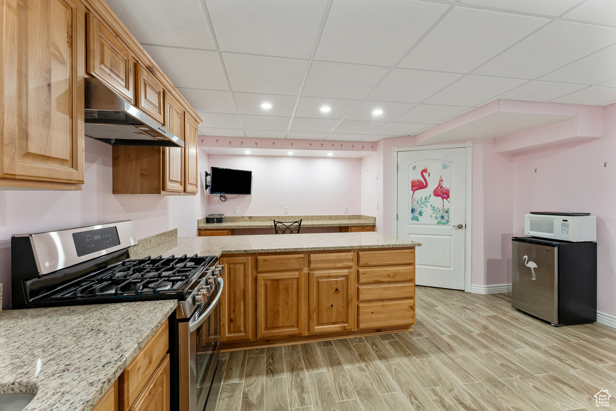
[[[0,282],[4,309],[10,303],[11,234],[131,219],[137,238],[173,228],[181,236],[197,235],[197,219],[203,216],[200,195],[111,193],[110,145],[86,138],[85,178],[83,190],[76,192],[0,191]]]

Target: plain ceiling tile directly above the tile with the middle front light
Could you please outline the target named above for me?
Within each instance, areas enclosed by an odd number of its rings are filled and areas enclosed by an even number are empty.
[[[363,99],[387,73],[386,68],[312,62],[302,95],[334,99]]]

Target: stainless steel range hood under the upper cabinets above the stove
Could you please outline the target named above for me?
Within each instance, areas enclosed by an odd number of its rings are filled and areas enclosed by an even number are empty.
[[[86,81],[86,136],[111,145],[184,147],[184,142],[97,78]]]

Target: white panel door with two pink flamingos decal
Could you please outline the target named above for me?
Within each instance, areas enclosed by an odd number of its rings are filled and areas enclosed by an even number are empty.
[[[464,290],[466,149],[398,153],[398,236],[415,250],[417,285]]]

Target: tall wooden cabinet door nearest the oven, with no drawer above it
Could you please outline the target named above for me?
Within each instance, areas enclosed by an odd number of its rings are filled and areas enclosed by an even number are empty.
[[[251,257],[221,258],[221,341],[253,337],[253,264]]]

